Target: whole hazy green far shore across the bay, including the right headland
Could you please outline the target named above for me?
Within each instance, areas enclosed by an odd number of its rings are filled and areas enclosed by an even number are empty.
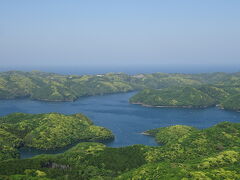
[[[157,91],[161,89],[164,90]],[[189,107],[218,104],[225,109],[237,111],[240,109],[240,72],[137,75],[107,73],[82,76],[39,71],[0,73],[0,99],[74,101],[82,96],[138,90],[143,92],[133,97],[131,102],[153,106]],[[140,97],[142,94],[144,97]],[[153,99],[154,95],[158,98]]]

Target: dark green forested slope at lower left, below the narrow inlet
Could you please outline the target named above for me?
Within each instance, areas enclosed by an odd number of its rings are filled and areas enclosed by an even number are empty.
[[[48,178],[107,179],[145,164],[146,151],[147,147],[142,145],[109,148],[100,143],[80,143],[58,155],[39,155],[31,159],[2,162],[0,174],[26,174],[26,169],[37,169]]]

